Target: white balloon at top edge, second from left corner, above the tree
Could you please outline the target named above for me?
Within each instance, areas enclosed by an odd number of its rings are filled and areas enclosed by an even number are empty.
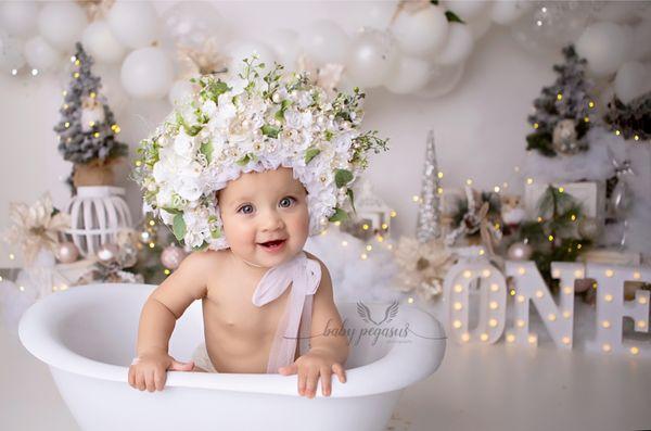
[[[86,12],[74,2],[47,3],[38,14],[41,36],[60,51],[74,49],[87,23]]]

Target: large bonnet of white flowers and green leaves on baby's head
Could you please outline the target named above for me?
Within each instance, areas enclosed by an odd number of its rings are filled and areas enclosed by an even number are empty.
[[[386,150],[376,131],[361,132],[358,88],[330,92],[307,73],[265,71],[257,56],[242,73],[192,79],[199,88],[140,142],[133,179],[152,211],[190,250],[229,246],[216,191],[243,173],[291,167],[306,188],[309,234],[355,208],[352,185],[366,153]],[[266,73],[265,73],[266,72]]]

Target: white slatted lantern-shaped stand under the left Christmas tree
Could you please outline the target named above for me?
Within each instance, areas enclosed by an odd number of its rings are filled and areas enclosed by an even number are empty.
[[[77,188],[77,195],[67,204],[71,228],[66,230],[84,256],[94,255],[99,249],[116,242],[123,228],[131,227],[131,214],[122,198],[125,189],[110,186]]]

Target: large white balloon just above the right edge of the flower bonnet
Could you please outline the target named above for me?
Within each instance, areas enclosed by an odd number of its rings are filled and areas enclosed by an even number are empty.
[[[388,31],[366,28],[353,39],[346,72],[359,87],[378,87],[396,67],[398,56],[397,43]]]

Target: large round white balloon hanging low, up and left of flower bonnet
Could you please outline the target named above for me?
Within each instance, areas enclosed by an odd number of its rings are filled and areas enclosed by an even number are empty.
[[[136,99],[155,100],[167,94],[174,80],[174,64],[161,48],[141,48],[125,59],[122,84]]]

